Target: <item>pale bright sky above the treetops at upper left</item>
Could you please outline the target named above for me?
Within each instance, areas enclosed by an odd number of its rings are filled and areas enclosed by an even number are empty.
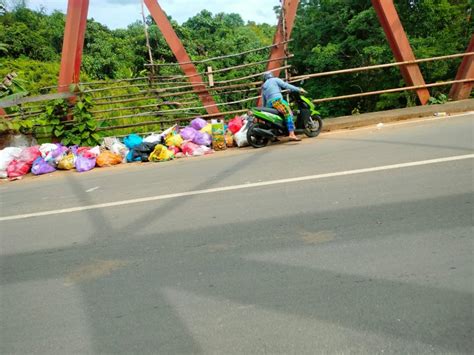
[[[45,8],[66,12],[67,0],[27,0],[29,8]],[[258,6],[255,4],[258,3]],[[273,7],[279,0],[159,0],[162,9],[174,20],[183,23],[201,10],[238,13],[244,21],[269,23],[275,25],[277,20]],[[146,7],[145,7],[146,8]],[[148,11],[145,10],[148,14]],[[89,0],[88,18],[106,25],[110,29],[126,28],[130,23],[141,20],[141,0]]]

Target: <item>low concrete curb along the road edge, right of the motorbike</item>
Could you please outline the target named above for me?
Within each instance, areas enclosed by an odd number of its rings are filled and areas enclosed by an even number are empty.
[[[378,123],[388,123],[434,116],[435,113],[450,115],[453,113],[474,111],[474,99],[448,102],[441,105],[427,105],[407,107],[402,109],[364,113],[354,116],[342,116],[327,118],[323,122],[323,132],[340,129],[354,129],[357,127],[376,125]]]

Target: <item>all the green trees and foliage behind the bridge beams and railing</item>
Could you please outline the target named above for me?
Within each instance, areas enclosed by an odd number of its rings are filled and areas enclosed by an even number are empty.
[[[31,94],[44,93],[40,91],[40,88],[54,86],[57,83],[65,16],[61,12],[48,15],[42,10],[30,10],[24,6],[23,0],[0,0],[2,1],[7,4],[5,7],[7,11],[0,16],[0,77],[15,71],[25,80],[24,86],[27,91]],[[472,5],[469,1],[400,0],[395,1],[395,4],[417,58],[465,51],[470,36],[474,32],[471,20]],[[278,15],[280,8],[276,6],[274,10]],[[175,62],[176,59],[154,20],[148,17],[146,21],[154,61],[156,63]],[[272,43],[275,31],[274,26],[257,25],[253,22],[244,23],[238,14],[213,14],[206,10],[189,18],[182,25],[172,19],[171,24],[194,60],[269,45]],[[293,75],[394,61],[370,0],[301,0],[292,39],[289,51],[294,54],[294,58],[290,61],[293,65]],[[241,57],[200,64],[197,65],[197,69],[204,72],[207,65],[211,65],[214,70],[218,70],[263,61],[267,58],[268,52],[255,52]],[[94,20],[88,20],[81,68],[83,81],[145,76],[147,73],[144,69],[148,60],[141,22],[130,24],[126,29],[110,30]],[[427,83],[452,80],[460,62],[461,59],[423,63],[420,64],[420,68]],[[214,80],[222,81],[252,75],[264,69],[265,64],[262,64],[242,70],[218,72],[214,74]],[[182,71],[178,66],[164,66],[157,67],[156,74],[182,75]],[[405,86],[405,83],[396,67],[319,77],[305,84],[310,96],[315,98],[402,86]],[[442,95],[446,95],[448,90],[449,86],[431,89],[434,97],[431,102],[442,100]],[[114,88],[114,94],[117,95],[137,91],[139,89],[132,86],[120,90]],[[94,92],[93,95],[98,98],[102,94],[107,95],[100,92]],[[217,102],[228,102],[253,95],[256,95],[256,92],[216,93],[214,98]],[[124,103],[121,107],[128,108],[153,103],[156,103],[156,100]],[[416,103],[417,97],[413,92],[400,92],[328,102],[322,104],[319,109],[322,115],[327,117],[406,107]],[[237,104],[232,108],[248,108],[253,104],[254,102]],[[76,112],[86,122],[90,114],[87,105],[86,103],[84,106],[86,112]],[[100,109],[107,110],[116,107],[103,105]],[[114,119],[114,117],[139,112],[140,110],[127,110],[107,113],[107,119],[111,119],[107,121],[107,124],[126,125],[131,123],[128,119]],[[103,118],[102,115],[99,116]],[[143,127],[144,130],[155,128],[154,126]],[[21,129],[28,129],[28,127]],[[138,131],[142,128],[136,129]],[[63,132],[60,132],[58,128],[59,138],[64,137],[63,135],[66,134],[64,132],[66,128]],[[82,135],[83,132],[75,133]],[[84,133],[84,136],[87,136],[87,133]],[[84,139],[90,136],[91,134]]]

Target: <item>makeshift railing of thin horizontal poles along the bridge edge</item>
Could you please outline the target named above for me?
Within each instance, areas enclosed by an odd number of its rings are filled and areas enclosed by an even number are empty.
[[[91,113],[97,120],[98,131],[106,135],[126,135],[130,132],[150,133],[162,130],[172,124],[185,124],[196,116],[206,119],[214,117],[226,117],[244,113],[249,107],[253,106],[260,98],[260,86],[266,61],[250,61],[248,63],[224,66],[219,63],[229,57],[245,56],[248,53],[268,50],[272,46],[257,48],[252,51],[208,58],[201,61],[195,61],[200,68],[200,75],[206,80],[202,88],[193,87],[184,75],[171,73],[170,68],[176,67],[178,63],[155,64],[154,74],[139,78],[127,78],[118,80],[95,81],[81,83],[84,87],[82,94],[92,97],[94,105]],[[389,67],[397,67],[424,62],[441,61],[455,59],[465,56],[472,56],[474,52],[451,54],[445,56],[417,59],[413,61],[386,63],[359,68],[350,68],[335,70],[322,73],[309,73],[289,77],[289,82],[296,83],[301,80],[311,80],[333,75],[357,73],[363,71],[377,70]],[[291,59],[291,55],[277,60]],[[246,58],[242,58],[246,60]],[[210,67],[214,63],[215,68]],[[160,74],[160,69],[165,68],[165,75]],[[285,70],[291,68],[291,65],[285,65],[278,69]],[[219,75],[223,73],[232,73],[234,77],[225,80],[219,80]],[[352,99],[370,95],[379,95],[385,93],[394,93],[407,90],[417,90],[420,88],[431,88],[437,86],[452,85],[455,83],[472,82],[474,79],[449,80],[444,82],[428,83],[426,85],[405,86],[385,90],[360,92],[350,95],[336,97],[326,97],[315,99],[315,103]],[[44,88],[46,91],[52,91],[55,87]],[[215,98],[216,106],[220,112],[207,114],[206,106],[203,106],[198,99],[199,90],[209,91]],[[27,97],[19,100],[0,101],[0,108],[8,108],[11,112],[8,120],[35,120],[44,115],[45,106],[48,102],[58,98],[69,98],[74,94],[48,93],[35,97]],[[74,124],[74,120],[70,121]],[[38,133],[37,133],[38,134]]]

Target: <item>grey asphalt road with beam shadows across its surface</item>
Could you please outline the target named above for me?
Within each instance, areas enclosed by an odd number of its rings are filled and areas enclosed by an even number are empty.
[[[2,183],[0,353],[471,353],[473,127]]]

